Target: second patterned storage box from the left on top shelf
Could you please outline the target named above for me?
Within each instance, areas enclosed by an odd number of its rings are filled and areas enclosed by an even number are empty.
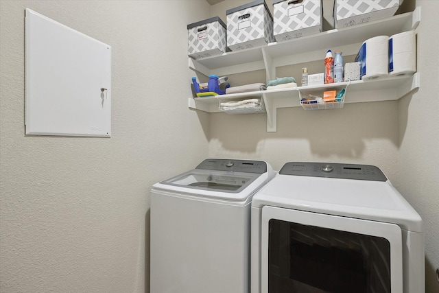
[[[264,0],[257,0],[227,14],[227,46],[236,51],[274,42],[273,17]]]

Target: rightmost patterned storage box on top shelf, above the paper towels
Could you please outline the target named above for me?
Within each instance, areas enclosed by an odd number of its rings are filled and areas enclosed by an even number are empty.
[[[403,0],[335,0],[334,27],[350,27],[393,16]]]

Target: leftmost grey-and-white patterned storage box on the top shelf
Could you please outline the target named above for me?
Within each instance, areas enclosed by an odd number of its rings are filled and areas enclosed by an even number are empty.
[[[187,25],[188,55],[198,59],[226,52],[226,24],[218,16]]]

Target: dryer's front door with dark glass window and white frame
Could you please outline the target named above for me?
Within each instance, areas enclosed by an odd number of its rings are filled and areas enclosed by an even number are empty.
[[[262,293],[402,293],[402,255],[396,224],[262,209]]]

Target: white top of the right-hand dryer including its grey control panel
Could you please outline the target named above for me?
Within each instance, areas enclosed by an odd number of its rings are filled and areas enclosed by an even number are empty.
[[[287,163],[253,197],[252,207],[265,205],[378,220],[423,232],[418,213],[381,170],[370,165]]]

